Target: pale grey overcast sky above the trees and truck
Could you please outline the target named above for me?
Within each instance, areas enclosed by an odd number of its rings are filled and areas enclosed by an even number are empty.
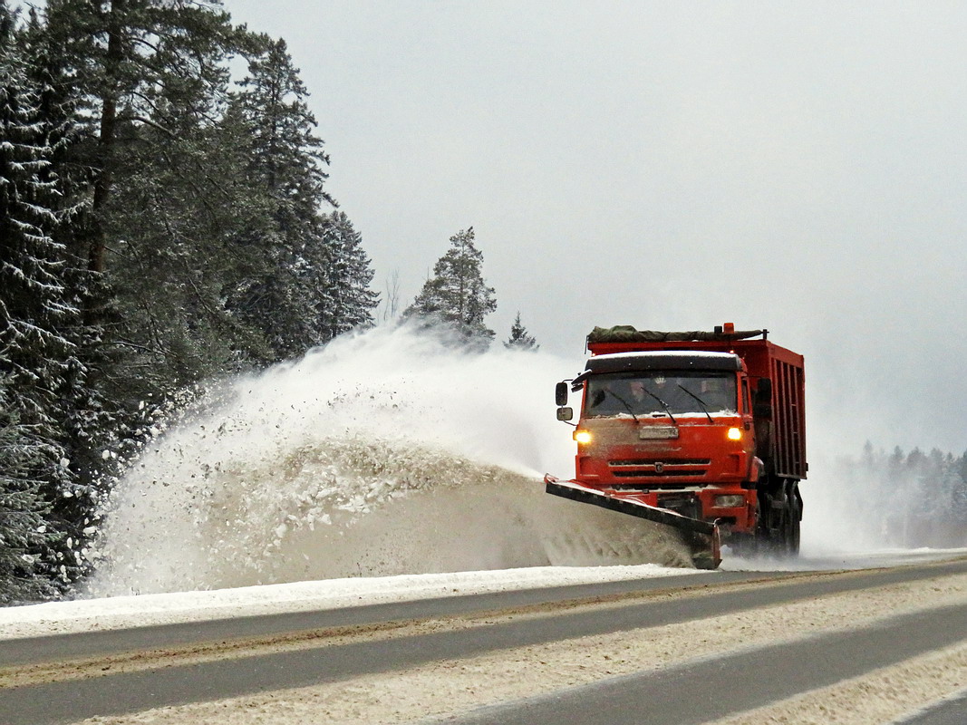
[[[289,44],[402,304],[472,225],[498,337],[576,371],[595,325],[766,327],[814,441],[967,448],[962,3],[225,7]]]

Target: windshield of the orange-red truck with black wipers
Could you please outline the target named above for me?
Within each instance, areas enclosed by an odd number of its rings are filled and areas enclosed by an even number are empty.
[[[597,417],[735,415],[735,373],[712,370],[647,370],[601,373],[588,379],[584,415]]]

